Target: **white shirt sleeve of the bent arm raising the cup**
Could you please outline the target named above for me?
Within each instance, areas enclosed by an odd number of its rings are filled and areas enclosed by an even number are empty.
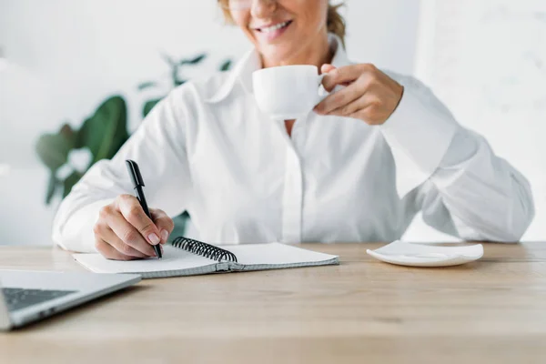
[[[460,126],[430,89],[402,81],[399,107],[379,126],[392,151],[399,197],[418,188],[423,220],[465,240],[518,241],[534,217],[529,182]]]

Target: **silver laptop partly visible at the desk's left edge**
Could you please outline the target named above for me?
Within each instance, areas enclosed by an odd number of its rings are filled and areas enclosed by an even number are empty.
[[[0,330],[44,319],[138,281],[136,274],[0,270]]]

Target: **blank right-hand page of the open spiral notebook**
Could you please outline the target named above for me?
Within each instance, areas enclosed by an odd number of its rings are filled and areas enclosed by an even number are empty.
[[[238,263],[244,265],[298,264],[321,262],[337,258],[337,256],[280,243],[241,244],[221,248],[235,254]]]

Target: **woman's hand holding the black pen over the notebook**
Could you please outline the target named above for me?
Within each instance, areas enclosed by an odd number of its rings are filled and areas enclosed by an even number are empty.
[[[118,196],[101,208],[93,227],[96,250],[105,258],[116,260],[155,257],[153,246],[167,242],[174,223],[160,209],[150,208],[150,214],[152,219],[136,197]]]

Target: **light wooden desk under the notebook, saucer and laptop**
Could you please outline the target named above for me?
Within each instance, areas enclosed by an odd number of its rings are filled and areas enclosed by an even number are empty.
[[[546,362],[546,243],[486,244],[454,268],[391,266],[366,254],[379,246],[303,246],[340,266],[144,280],[0,334],[0,362]],[[0,267],[82,270],[58,248],[0,248]]]

